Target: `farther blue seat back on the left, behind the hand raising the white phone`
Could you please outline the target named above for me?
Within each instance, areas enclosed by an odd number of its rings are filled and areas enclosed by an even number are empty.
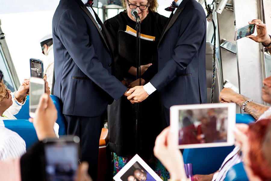
[[[53,103],[55,104],[55,107],[58,111],[58,119],[56,121],[59,125],[58,134],[59,135],[66,135],[65,118],[62,114],[61,102],[58,99],[58,97],[53,96],[53,95],[50,95],[50,96],[51,96]],[[29,96],[27,96],[25,104],[22,106],[19,113],[15,115],[15,117],[17,119],[29,119],[30,118],[30,116],[29,116]]]

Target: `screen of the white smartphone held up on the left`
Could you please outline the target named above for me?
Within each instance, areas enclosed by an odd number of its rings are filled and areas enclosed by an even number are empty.
[[[35,113],[36,108],[38,107],[38,104],[39,104],[39,99],[41,95],[44,94],[45,92],[44,84],[37,84],[35,82],[30,82],[29,109],[31,113]]]

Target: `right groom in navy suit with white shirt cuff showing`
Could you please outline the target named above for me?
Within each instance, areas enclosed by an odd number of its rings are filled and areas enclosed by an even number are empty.
[[[158,72],[127,98],[138,103],[158,90],[169,125],[170,106],[206,103],[206,15],[195,0],[174,0],[166,10],[172,13],[158,44]]]

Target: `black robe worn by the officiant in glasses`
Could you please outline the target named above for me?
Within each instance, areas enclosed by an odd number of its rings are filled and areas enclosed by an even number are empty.
[[[149,11],[147,17],[141,22],[141,33],[154,36],[155,40],[159,41],[167,20],[167,17]],[[131,63],[118,55],[118,31],[125,31],[126,25],[136,30],[136,22],[132,21],[125,11],[104,22],[104,26],[111,34],[114,43],[115,68],[125,80],[132,82],[136,80],[136,76],[128,74],[128,70],[131,66],[136,67],[136,62]],[[157,47],[154,50],[149,52],[154,54],[152,60],[146,60],[144,59],[144,55],[141,55],[141,65],[153,64],[150,66],[148,74],[142,75],[146,83],[157,73]],[[155,138],[166,127],[166,122],[163,105],[157,91],[140,104],[138,154],[148,156],[153,153]],[[130,103],[126,97],[123,96],[108,106],[109,146],[112,152],[119,156],[136,153],[135,125],[136,106]]]

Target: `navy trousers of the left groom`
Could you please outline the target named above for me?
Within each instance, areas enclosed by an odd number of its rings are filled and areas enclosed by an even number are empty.
[[[89,175],[97,180],[99,141],[103,121],[101,116],[83,117],[64,115],[66,118],[67,135],[76,135],[81,139],[81,162],[89,163]]]

